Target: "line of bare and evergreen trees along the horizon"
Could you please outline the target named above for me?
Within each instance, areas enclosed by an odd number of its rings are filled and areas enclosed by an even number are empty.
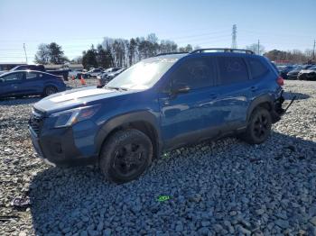
[[[84,68],[128,68],[141,59],[153,57],[160,53],[190,52],[199,49],[188,44],[179,47],[174,41],[159,40],[151,33],[147,37],[136,37],[130,40],[104,38],[97,47],[91,45],[90,49],[84,50],[82,55],[71,61],[64,56],[61,46],[56,42],[40,44],[35,55],[35,62],[39,64],[63,64],[65,62],[82,63]],[[311,50],[270,50],[265,52],[263,45],[253,43],[246,46],[247,50],[254,50],[256,54],[264,55],[270,60],[284,60],[292,63],[307,63],[311,61]]]

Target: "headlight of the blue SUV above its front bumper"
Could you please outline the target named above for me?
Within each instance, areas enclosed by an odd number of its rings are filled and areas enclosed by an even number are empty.
[[[68,127],[75,123],[87,120],[98,112],[100,105],[79,107],[59,113],[52,113],[51,118],[56,118],[54,128]]]

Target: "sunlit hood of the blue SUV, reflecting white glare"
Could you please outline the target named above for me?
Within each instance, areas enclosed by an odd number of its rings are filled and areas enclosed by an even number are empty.
[[[46,114],[56,113],[63,110],[68,110],[78,106],[82,106],[94,101],[105,99],[117,95],[125,95],[133,93],[130,91],[117,91],[106,88],[97,88],[89,86],[79,89],[71,89],[58,94],[50,95],[43,98],[38,103],[34,104],[34,108]]]

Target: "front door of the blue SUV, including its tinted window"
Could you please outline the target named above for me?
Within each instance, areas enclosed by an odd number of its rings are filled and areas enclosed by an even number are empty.
[[[217,134],[209,132],[209,108],[205,106],[212,99],[209,88],[216,77],[215,66],[207,58],[186,59],[172,72],[167,87],[159,95],[166,149]],[[175,91],[180,87],[189,87],[189,91]]]

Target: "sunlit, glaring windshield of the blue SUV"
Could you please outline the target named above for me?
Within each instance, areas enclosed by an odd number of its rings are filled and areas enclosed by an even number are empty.
[[[127,89],[147,89],[153,86],[177,59],[144,59],[127,68],[111,80],[107,86]]]

